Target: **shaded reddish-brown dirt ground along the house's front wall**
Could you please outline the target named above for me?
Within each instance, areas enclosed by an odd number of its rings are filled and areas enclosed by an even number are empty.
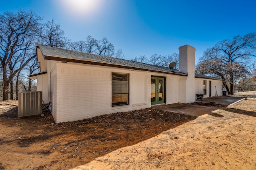
[[[0,102],[0,170],[68,170],[135,145],[196,117],[143,109],[54,124],[17,119],[18,102]]]

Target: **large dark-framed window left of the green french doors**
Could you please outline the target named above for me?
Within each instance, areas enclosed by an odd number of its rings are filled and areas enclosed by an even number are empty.
[[[112,106],[129,104],[129,74],[112,72]]]

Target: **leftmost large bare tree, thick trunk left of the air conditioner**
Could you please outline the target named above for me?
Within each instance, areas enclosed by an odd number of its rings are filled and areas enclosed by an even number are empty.
[[[17,14],[5,12],[0,15],[0,63],[3,71],[3,100],[8,100],[8,86],[14,76],[36,56],[28,51],[34,49],[34,36],[40,32],[41,17],[34,12],[19,10]],[[28,54],[28,55],[27,55]],[[23,61],[20,67],[8,71],[14,57]]]

